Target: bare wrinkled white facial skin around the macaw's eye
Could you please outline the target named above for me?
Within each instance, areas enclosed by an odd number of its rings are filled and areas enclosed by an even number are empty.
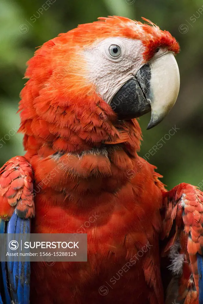
[[[120,47],[118,57],[111,56],[109,47]],[[86,77],[97,88],[97,93],[106,103],[144,64],[145,48],[140,40],[113,37],[107,38],[84,50],[87,61]],[[111,51],[112,52],[112,51]]]

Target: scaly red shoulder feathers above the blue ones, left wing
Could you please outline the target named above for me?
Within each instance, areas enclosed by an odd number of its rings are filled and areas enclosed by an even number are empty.
[[[0,169],[0,218],[9,220],[14,210],[21,218],[34,216],[32,168],[25,157],[16,156]]]

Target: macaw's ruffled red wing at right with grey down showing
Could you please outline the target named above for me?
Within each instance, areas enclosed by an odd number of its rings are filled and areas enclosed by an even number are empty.
[[[169,238],[163,255],[169,254],[169,268],[179,278],[178,298],[185,298],[185,304],[198,303],[197,253],[203,253],[203,193],[182,183],[163,193],[163,203],[162,239]]]

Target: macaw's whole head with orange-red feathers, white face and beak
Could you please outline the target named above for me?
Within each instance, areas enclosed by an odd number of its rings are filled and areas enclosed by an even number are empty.
[[[52,142],[53,151],[118,143],[131,119],[151,111],[149,129],[166,116],[179,92],[174,57],[179,45],[169,32],[144,20],[147,24],[99,18],[36,51],[21,92],[26,149],[36,141]]]

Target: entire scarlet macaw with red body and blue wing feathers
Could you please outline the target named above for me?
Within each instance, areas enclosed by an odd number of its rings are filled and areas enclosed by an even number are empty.
[[[0,303],[162,304],[161,256],[174,275],[166,302],[198,303],[202,193],[184,183],[167,192],[137,154],[135,118],[151,111],[148,129],[160,123],[180,85],[178,43],[144,21],[99,18],[28,61],[26,154],[0,171],[1,232],[84,232],[88,261],[33,262],[31,277],[29,263],[2,263]]]

